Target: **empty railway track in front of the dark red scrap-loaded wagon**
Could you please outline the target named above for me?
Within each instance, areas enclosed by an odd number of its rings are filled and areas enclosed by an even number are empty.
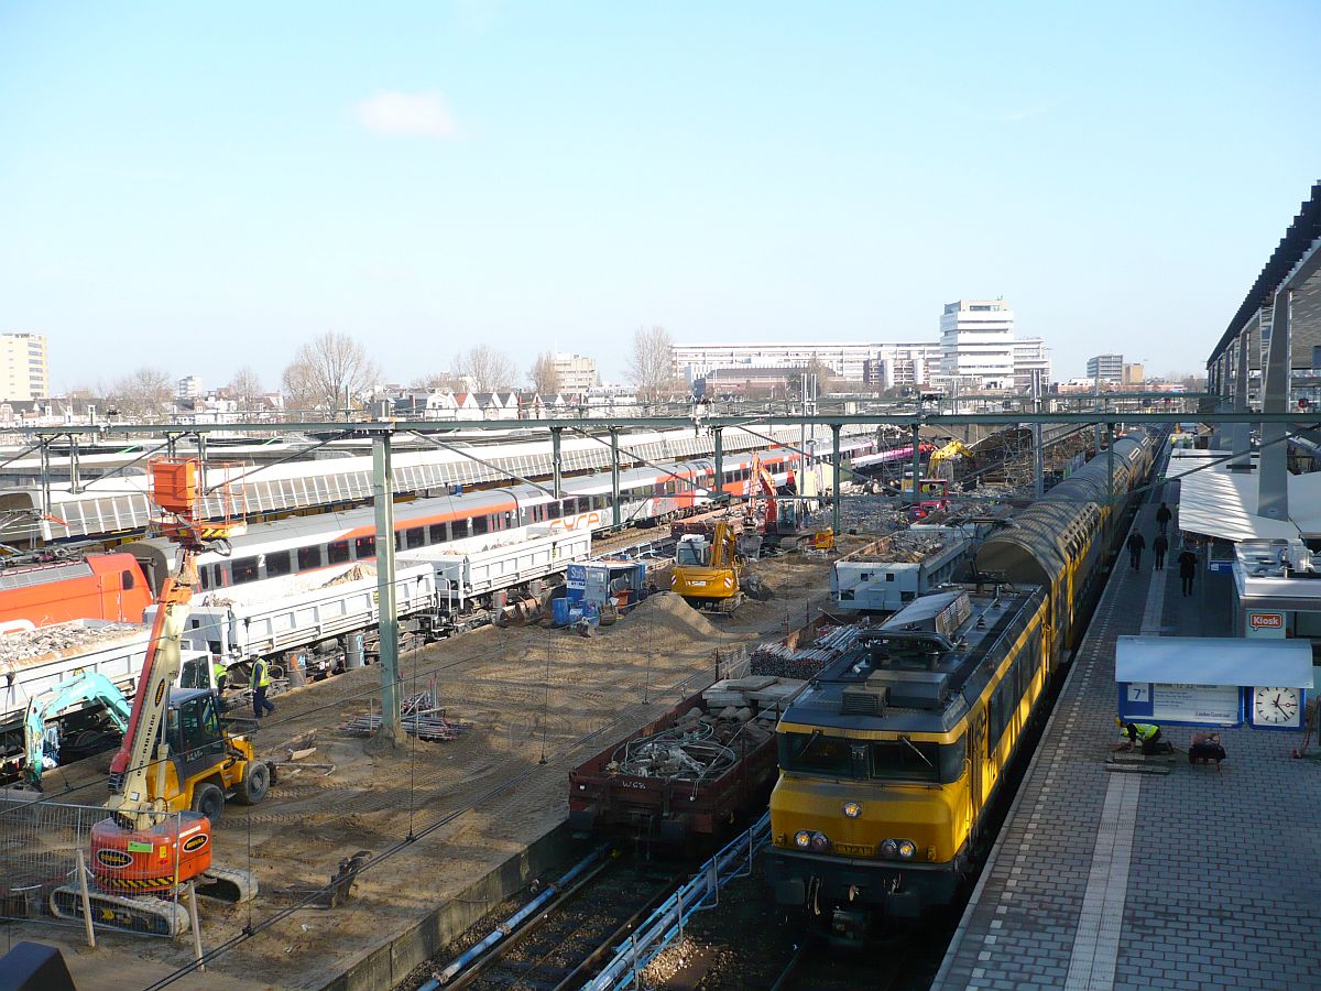
[[[678,880],[635,858],[606,855],[494,947],[437,986],[502,991],[581,987]]]

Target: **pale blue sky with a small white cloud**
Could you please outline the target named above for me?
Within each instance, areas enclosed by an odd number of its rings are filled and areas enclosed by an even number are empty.
[[[621,377],[675,340],[1198,370],[1321,177],[1310,3],[0,0],[0,332],[53,387],[353,334]]]

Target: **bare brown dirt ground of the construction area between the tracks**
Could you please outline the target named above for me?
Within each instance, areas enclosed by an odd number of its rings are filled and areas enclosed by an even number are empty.
[[[844,538],[840,552],[863,542]],[[778,637],[818,614],[828,603],[830,560],[795,554],[758,562],[754,569],[773,596],[745,603],[733,617],[708,618],[666,593],[590,638],[542,626],[487,626],[416,651],[402,665],[404,694],[435,688],[446,715],[469,724],[449,743],[382,752],[339,732],[351,716],[373,706],[379,711],[375,667],[275,698],[277,711],[255,736],[258,752],[279,758],[289,741],[314,731],[317,752],[308,761],[334,770],[285,776],[262,805],[226,809],[215,860],[250,869],[260,893],[242,906],[203,904],[203,947],[296,904],[324,885],[341,859],[380,854],[435,828],[366,871],[346,906],[300,909],[226,951],[206,975],[177,986],[324,986],[559,825],[568,809],[568,772],[663,712],[683,688],[709,682],[716,651]],[[141,987],[151,983],[148,973],[166,973],[192,957],[188,939],[104,934],[99,949],[87,950],[79,932],[9,930],[12,939],[59,942],[75,979],[85,976],[89,987]]]

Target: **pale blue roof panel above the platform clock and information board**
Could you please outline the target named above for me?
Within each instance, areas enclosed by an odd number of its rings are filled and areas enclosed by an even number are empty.
[[[1115,680],[1312,687],[1312,642],[1229,637],[1119,637]]]

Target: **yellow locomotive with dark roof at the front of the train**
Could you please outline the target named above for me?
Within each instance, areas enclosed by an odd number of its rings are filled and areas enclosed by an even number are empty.
[[[952,900],[1046,688],[1046,612],[1037,587],[959,589],[859,629],[779,721],[777,902],[853,942]]]

